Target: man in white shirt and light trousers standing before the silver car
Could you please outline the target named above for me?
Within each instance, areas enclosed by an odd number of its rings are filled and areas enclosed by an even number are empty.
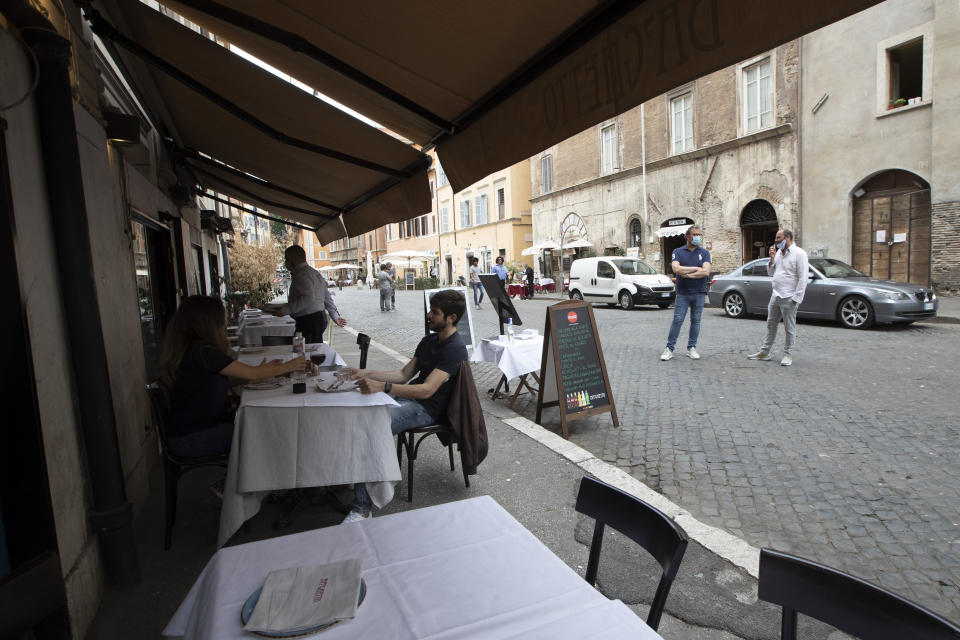
[[[793,232],[788,229],[777,231],[767,263],[767,274],[773,277],[773,291],[767,304],[767,335],[760,345],[760,351],[747,356],[751,360],[770,360],[770,349],[777,339],[777,328],[782,319],[786,338],[780,364],[785,367],[793,364],[793,347],[797,343],[797,308],[807,291],[807,262],[807,252],[793,244]]]

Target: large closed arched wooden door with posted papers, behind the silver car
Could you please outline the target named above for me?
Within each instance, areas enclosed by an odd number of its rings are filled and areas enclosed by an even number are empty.
[[[874,278],[930,284],[930,184],[891,169],[854,190],[853,266]]]

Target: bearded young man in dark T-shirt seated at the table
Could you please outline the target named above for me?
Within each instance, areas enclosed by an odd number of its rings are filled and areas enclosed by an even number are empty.
[[[443,421],[453,389],[452,378],[460,370],[460,363],[467,359],[467,348],[457,333],[457,322],[466,310],[467,301],[459,291],[448,289],[435,293],[430,297],[427,314],[430,330],[435,333],[420,341],[413,358],[403,369],[343,370],[358,381],[363,393],[384,391],[400,403],[398,407],[387,407],[394,434]],[[362,483],[356,484],[353,507],[344,522],[369,518],[371,508],[367,488]]]

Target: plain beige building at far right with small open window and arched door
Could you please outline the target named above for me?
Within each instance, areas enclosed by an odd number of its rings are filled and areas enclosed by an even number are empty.
[[[960,5],[888,0],[805,36],[802,95],[808,248],[960,291]]]

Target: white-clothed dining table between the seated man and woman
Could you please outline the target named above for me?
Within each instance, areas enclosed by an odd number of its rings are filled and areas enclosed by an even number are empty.
[[[306,356],[346,364],[327,344],[306,345]],[[238,360],[259,364],[287,359],[289,346],[240,349]],[[385,393],[323,392],[308,378],[305,393],[293,393],[288,379],[275,388],[244,388],[234,420],[217,546],[222,546],[260,510],[272,491],[362,482],[374,506],[393,499],[400,481],[396,445]],[[265,385],[250,385],[265,386]]]

